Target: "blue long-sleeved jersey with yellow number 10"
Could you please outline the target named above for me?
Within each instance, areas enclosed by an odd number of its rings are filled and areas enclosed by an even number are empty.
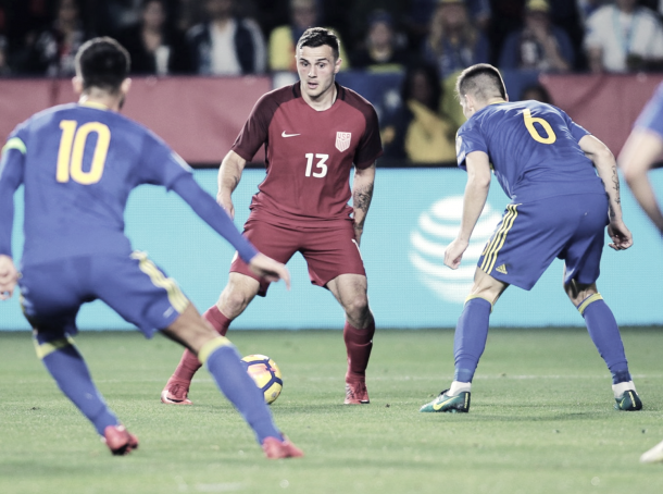
[[[245,259],[255,255],[191,169],[159,137],[99,104],[35,114],[10,135],[0,161],[0,254],[11,256],[13,192],[25,186],[23,265],[100,254],[128,256],[128,195],[140,184],[174,188]]]

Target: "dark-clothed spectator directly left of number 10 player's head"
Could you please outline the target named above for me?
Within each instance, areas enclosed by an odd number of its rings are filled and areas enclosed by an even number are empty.
[[[60,0],[52,26],[40,33],[26,48],[23,70],[50,77],[73,76],[76,74],[76,51],[89,37],[83,26],[77,1]]]

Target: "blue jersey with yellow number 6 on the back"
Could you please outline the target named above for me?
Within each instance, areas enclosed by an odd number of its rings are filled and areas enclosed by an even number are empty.
[[[513,202],[567,194],[605,194],[578,141],[588,134],[559,108],[538,101],[489,104],[458,132],[459,166],[484,151]]]

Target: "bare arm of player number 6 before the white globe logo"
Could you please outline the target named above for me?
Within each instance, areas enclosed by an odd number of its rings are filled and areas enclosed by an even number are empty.
[[[470,237],[481,215],[488,190],[490,190],[490,161],[484,151],[473,151],[465,157],[467,185],[463,196],[461,230],[455,239],[445,250],[445,264],[451,269],[461,265],[463,254],[470,245]]]

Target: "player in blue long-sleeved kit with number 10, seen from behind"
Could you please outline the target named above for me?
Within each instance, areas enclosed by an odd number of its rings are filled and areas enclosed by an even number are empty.
[[[255,432],[268,458],[302,456],[278,431],[233,344],[220,336],[175,281],[124,235],[127,197],[140,184],[178,194],[225,237],[259,275],[285,280],[286,268],[241,236],[193,180],[189,166],[155,135],[118,111],[129,90],[129,57],[111,38],[96,38],[76,57],[78,103],[35,114],[10,135],[0,161],[0,294],[21,287],[38,357],[111,452],[138,440],[121,424],[74,346],[82,304],[101,299],[151,337],[161,331],[207,365],[216,384]],[[25,188],[22,275],[12,261],[13,195]]]

